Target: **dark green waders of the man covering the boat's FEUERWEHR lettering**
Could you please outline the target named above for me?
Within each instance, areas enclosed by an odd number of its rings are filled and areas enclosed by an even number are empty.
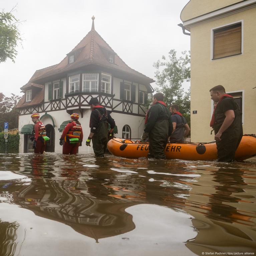
[[[165,148],[168,140],[169,122],[160,120],[149,133],[148,158],[166,159]]]

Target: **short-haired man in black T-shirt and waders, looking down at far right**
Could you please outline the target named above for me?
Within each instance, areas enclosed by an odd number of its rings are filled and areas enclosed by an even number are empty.
[[[218,162],[233,162],[243,137],[242,112],[222,85],[210,89],[211,99],[217,101],[210,126],[213,127],[218,150]]]

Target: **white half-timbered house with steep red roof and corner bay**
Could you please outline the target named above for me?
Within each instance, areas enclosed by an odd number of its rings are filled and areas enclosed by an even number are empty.
[[[20,152],[32,152],[30,115],[40,113],[46,126],[46,151],[62,152],[59,138],[73,112],[80,115],[84,138],[89,135],[91,97],[112,111],[115,137],[139,138],[144,129],[145,106],[153,92],[152,78],[130,68],[92,27],[88,34],[58,64],[36,70],[16,109],[19,111]],[[79,153],[92,153],[85,143]]]

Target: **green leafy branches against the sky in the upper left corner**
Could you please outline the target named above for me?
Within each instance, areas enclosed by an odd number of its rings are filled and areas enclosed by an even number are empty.
[[[12,11],[13,9],[10,12],[0,12],[0,63],[5,62],[7,58],[15,62],[18,53],[16,47],[22,41],[17,26],[20,22]]]

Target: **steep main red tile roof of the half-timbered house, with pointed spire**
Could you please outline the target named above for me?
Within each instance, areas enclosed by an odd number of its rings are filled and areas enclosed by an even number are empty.
[[[114,55],[114,63],[108,62],[104,50]],[[146,79],[148,83],[154,82],[152,78],[130,68],[94,30],[94,23],[91,31],[88,32],[68,55],[76,53],[77,51],[79,51],[79,54],[77,54],[73,63],[68,64],[68,56],[66,56],[59,64],[37,70],[29,81],[37,81],[38,79],[47,78],[82,66],[96,64],[138,76],[141,79]]]

